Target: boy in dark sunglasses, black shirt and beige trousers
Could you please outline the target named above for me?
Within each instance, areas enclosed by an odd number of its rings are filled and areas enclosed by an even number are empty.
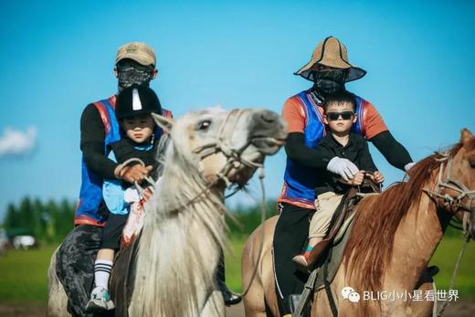
[[[344,90],[327,96],[323,102],[323,122],[327,134],[320,141],[317,150],[329,157],[336,155],[352,161],[359,168],[359,172],[350,181],[344,181],[340,175],[327,170],[322,170],[322,174],[318,175],[318,184],[315,187],[316,212],[311,219],[308,248],[304,254],[293,258],[297,268],[304,272],[314,265],[311,263],[311,259],[315,258],[311,256],[311,250],[325,237],[332,215],[344,193],[351,186],[361,185],[364,174],[368,174],[376,184],[385,180],[383,174],[376,169],[364,137],[352,132],[358,120],[355,109],[354,95]]]

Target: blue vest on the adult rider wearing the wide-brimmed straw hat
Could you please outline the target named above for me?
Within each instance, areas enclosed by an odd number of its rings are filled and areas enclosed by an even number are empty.
[[[353,131],[364,134],[364,108],[367,101],[356,97],[356,114],[358,121],[353,125]],[[311,98],[311,90],[304,90],[291,97],[301,103],[305,111],[305,128],[303,130],[304,143],[306,146],[316,149],[320,140],[325,135],[325,124],[322,112],[319,110],[320,104]],[[319,170],[307,167],[287,158],[284,174],[284,185],[278,198],[279,202],[289,203],[295,206],[315,209],[313,200],[315,199],[314,188],[317,183]]]

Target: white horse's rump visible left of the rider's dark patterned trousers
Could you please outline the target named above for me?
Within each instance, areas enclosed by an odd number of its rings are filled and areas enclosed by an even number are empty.
[[[58,248],[53,252],[49,267],[47,268],[47,317],[70,316],[68,312],[68,296],[56,275],[56,254],[58,253]]]

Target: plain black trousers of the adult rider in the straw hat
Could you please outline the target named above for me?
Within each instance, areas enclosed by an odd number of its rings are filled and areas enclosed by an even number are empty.
[[[313,209],[281,204],[274,233],[276,291],[282,314],[290,313],[290,294],[301,293],[308,276],[295,269],[292,258],[300,254],[309,236]]]

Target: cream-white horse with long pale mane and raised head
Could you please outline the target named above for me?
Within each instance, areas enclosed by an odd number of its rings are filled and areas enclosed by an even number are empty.
[[[265,156],[280,149],[285,123],[274,112],[250,109],[155,121],[171,133],[161,156],[164,170],[145,206],[139,242],[124,251],[136,252],[134,260],[120,257],[114,264],[111,291],[116,299],[126,297],[116,302],[115,315],[222,316],[215,272],[226,237],[224,190],[245,185]],[[65,316],[55,259],[48,272],[47,315]]]

